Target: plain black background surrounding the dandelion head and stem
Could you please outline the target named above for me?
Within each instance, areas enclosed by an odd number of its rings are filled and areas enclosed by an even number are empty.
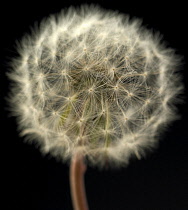
[[[1,5],[1,209],[71,210],[69,167],[49,156],[42,157],[34,145],[18,136],[16,121],[7,117],[9,82],[5,76],[9,60],[16,56],[15,41],[30,26],[64,7],[91,1],[16,1]],[[90,210],[186,210],[188,209],[188,111],[187,111],[187,6],[183,1],[92,1],[103,8],[142,18],[143,24],[160,31],[168,46],[184,56],[181,68],[185,103],[179,105],[181,119],[170,125],[159,148],[127,168],[99,171],[87,168],[85,182]],[[5,143],[5,146],[4,146]]]

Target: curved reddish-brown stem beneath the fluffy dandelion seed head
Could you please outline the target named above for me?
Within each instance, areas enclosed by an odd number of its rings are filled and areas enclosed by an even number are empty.
[[[85,171],[86,165],[82,155],[75,155],[70,165],[70,188],[74,210],[89,210],[84,185]]]

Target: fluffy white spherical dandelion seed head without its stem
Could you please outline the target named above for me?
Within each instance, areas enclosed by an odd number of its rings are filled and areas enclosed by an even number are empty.
[[[98,6],[62,10],[22,40],[9,77],[21,135],[62,160],[128,164],[176,114],[179,57],[138,19]]]

